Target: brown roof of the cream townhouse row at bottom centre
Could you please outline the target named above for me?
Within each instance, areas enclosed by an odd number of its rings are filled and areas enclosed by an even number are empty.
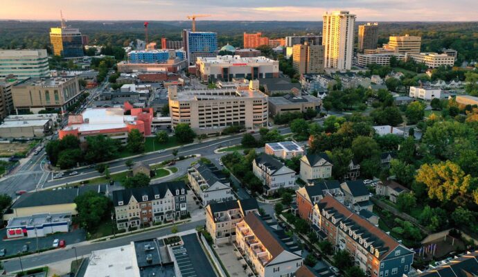
[[[267,223],[256,213],[249,213],[244,217],[245,222],[251,228],[256,237],[263,243],[264,247],[272,255],[272,261],[283,251],[293,253],[290,247],[281,240],[280,231],[272,229]]]

